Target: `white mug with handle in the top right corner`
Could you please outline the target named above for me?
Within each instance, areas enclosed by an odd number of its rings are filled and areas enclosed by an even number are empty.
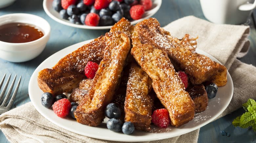
[[[206,19],[216,24],[243,24],[256,7],[249,0],[200,0]]]

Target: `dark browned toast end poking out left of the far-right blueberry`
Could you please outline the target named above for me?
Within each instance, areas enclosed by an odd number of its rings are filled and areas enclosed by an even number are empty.
[[[203,84],[189,86],[186,91],[195,103],[195,112],[203,112],[208,105],[208,97]]]

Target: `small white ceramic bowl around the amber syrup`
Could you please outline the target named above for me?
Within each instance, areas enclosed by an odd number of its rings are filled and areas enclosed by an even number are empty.
[[[14,13],[0,16],[0,25],[8,23],[26,23],[38,26],[44,36],[25,43],[0,41],[0,58],[10,62],[25,62],[38,56],[50,38],[50,24],[43,18],[25,13]]]

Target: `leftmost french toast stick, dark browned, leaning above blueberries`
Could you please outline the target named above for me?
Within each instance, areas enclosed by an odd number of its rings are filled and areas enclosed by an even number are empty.
[[[37,76],[40,89],[53,95],[70,92],[85,78],[84,68],[87,62],[101,61],[107,39],[105,36],[96,38],[60,59],[52,69],[40,71]]]

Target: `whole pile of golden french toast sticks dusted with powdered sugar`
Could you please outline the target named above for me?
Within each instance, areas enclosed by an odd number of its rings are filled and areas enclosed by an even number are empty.
[[[150,131],[152,111],[161,107],[168,110],[171,125],[179,127],[206,109],[203,83],[227,83],[223,65],[195,52],[196,39],[172,37],[155,18],[135,26],[122,18],[105,36],[40,71],[38,86],[53,95],[71,92],[70,100],[79,104],[75,118],[82,124],[101,124],[106,105],[116,103],[123,119],[138,130]],[[99,64],[93,79],[84,75],[89,61]],[[186,89],[177,71],[188,75]]]

